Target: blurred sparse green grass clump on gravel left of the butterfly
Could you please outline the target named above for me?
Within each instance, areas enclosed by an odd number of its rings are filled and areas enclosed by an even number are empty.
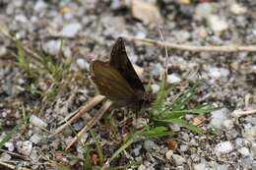
[[[34,96],[52,101],[59,93],[60,86],[64,79],[71,75],[70,66],[73,60],[64,61],[62,56],[62,43],[57,56],[47,54],[37,55],[37,58],[26,52],[23,44],[17,40],[17,66],[21,68],[28,77],[29,84],[27,91]],[[44,81],[46,90],[39,87],[39,83]]]

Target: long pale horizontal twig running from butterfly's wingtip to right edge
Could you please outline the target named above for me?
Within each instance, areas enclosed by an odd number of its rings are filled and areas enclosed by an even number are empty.
[[[152,44],[160,47],[166,46],[171,49],[179,49],[185,51],[193,51],[193,52],[256,52],[256,45],[248,45],[248,46],[239,46],[239,45],[223,45],[223,46],[194,46],[194,45],[185,45],[185,44],[176,44],[170,42],[161,42],[154,39],[149,38],[140,38],[136,36],[124,36],[127,40],[131,41],[140,41],[144,44]]]

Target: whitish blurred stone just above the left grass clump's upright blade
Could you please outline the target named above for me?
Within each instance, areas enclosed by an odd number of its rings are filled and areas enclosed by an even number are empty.
[[[49,40],[48,42],[42,44],[43,51],[50,55],[57,55],[60,51],[60,47],[60,40]]]

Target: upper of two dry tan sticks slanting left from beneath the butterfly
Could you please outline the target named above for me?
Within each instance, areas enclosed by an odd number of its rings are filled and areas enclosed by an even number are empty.
[[[96,95],[94,98],[92,98],[90,101],[88,101],[86,104],[84,104],[82,107],[80,107],[73,115],[72,118],[70,118],[70,116],[68,116],[67,120],[66,118],[66,122],[65,124],[61,125],[59,128],[57,128],[52,136],[55,136],[57,134],[59,134],[61,131],[63,131],[68,125],[72,124],[74,121],[78,120],[84,113],[90,111],[92,108],[94,108],[98,103],[100,103],[103,99],[105,98],[105,96],[103,95]]]

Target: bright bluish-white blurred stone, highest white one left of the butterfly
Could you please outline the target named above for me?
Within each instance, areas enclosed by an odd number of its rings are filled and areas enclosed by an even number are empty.
[[[60,31],[60,35],[66,37],[75,37],[81,29],[82,26],[79,23],[69,24],[62,28],[62,30]]]

